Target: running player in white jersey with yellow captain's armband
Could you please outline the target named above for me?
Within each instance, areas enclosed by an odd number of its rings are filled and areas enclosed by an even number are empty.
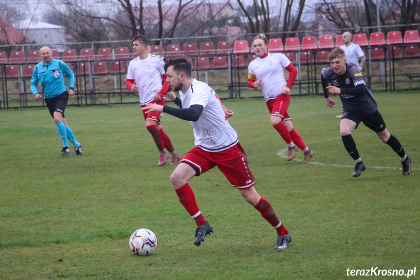
[[[291,118],[287,113],[290,104],[290,88],[297,75],[297,70],[287,56],[281,53],[269,53],[267,42],[268,38],[264,34],[259,34],[252,40],[257,57],[248,66],[248,86],[250,88],[261,87],[271,113],[271,124],[289,148],[287,160],[292,160],[295,157],[297,147],[299,147],[304,153],[303,162],[308,163],[313,152],[293,128]],[[287,83],[284,78],[284,69],[290,73]]]

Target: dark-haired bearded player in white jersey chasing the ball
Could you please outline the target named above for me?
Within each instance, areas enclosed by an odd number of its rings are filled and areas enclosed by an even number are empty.
[[[226,111],[212,88],[191,76],[191,63],[185,56],[170,59],[165,64],[165,72],[166,81],[174,91],[180,91],[183,109],[148,104],[143,110],[146,113],[174,115],[190,121],[193,127],[195,147],[183,156],[171,175],[171,183],[181,204],[197,224],[194,244],[200,246],[206,236],[213,232],[213,226],[201,214],[188,181],[217,166],[232,187],[236,187],[245,200],[276,229],[277,243],[274,249],[286,249],[292,242],[292,235],[280,222],[270,203],[256,192],[256,180],[248,168],[245,151],[227,119],[232,112]]]

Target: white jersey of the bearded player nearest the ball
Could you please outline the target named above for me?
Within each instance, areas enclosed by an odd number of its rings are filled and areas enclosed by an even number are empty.
[[[193,79],[186,93],[180,91],[183,108],[204,107],[200,118],[191,122],[195,146],[210,152],[222,151],[238,143],[237,132],[230,126],[219,96],[206,83]]]

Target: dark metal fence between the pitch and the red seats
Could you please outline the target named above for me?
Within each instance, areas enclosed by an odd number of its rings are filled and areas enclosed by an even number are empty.
[[[91,49],[90,44],[86,46]],[[121,56],[117,54],[117,50],[121,48],[121,45],[115,45],[115,48],[111,49],[109,59],[103,59],[100,55],[80,55],[74,57],[74,61],[66,62],[75,74],[75,97],[69,99],[69,105],[139,102],[138,94],[129,91],[126,87],[128,63],[132,57],[128,54],[127,58],[118,59]],[[363,75],[367,85],[374,92],[420,89],[419,48],[419,44],[363,48],[366,53]],[[409,52],[406,51],[407,49]],[[94,49],[93,53],[97,54],[98,50]],[[224,52],[209,55],[197,53],[197,55],[189,56],[193,65],[193,76],[212,86],[220,98],[262,96],[259,89],[250,89],[247,86],[248,64],[255,59],[255,55],[253,53],[235,54],[234,49],[226,49]],[[291,89],[292,95],[323,93],[320,75],[322,68],[329,67],[325,59],[325,53],[328,52],[329,49],[284,52],[298,70]],[[408,53],[414,55],[407,56]],[[168,54],[170,55],[166,53]],[[64,53],[61,54],[61,59],[63,58]],[[30,81],[34,66],[34,63],[27,62],[0,64],[1,109],[45,106],[44,101],[36,102],[31,93]],[[287,79],[287,71],[285,74]],[[42,93],[40,85],[38,89]]]

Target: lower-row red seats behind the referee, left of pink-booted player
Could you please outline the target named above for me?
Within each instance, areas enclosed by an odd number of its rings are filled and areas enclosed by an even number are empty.
[[[84,62],[77,62],[77,63],[67,63],[67,65],[79,75],[89,75],[90,64]],[[25,64],[22,65],[21,70],[19,71],[19,65],[6,65],[6,76],[7,78],[29,78],[32,76],[32,72],[34,70],[35,64]],[[76,69],[74,69],[76,67]],[[1,73],[0,68],[0,73]],[[118,75],[118,74],[125,74],[126,67],[123,62],[120,61],[111,61],[107,63],[103,62],[93,62],[92,63],[92,75]]]

